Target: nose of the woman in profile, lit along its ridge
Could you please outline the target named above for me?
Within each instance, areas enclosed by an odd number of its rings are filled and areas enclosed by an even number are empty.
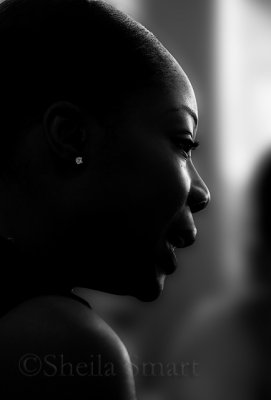
[[[188,205],[192,213],[203,210],[210,202],[211,195],[208,187],[192,164],[191,189],[188,196]]]

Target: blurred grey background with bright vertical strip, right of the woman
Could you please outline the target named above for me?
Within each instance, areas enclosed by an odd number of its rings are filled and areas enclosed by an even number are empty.
[[[151,30],[189,76],[200,120],[194,162],[212,201],[158,301],[83,295],[126,344],[139,398],[271,398],[271,1],[108,2]],[[140,374],[145,361],[197,361],[199,373]]]

